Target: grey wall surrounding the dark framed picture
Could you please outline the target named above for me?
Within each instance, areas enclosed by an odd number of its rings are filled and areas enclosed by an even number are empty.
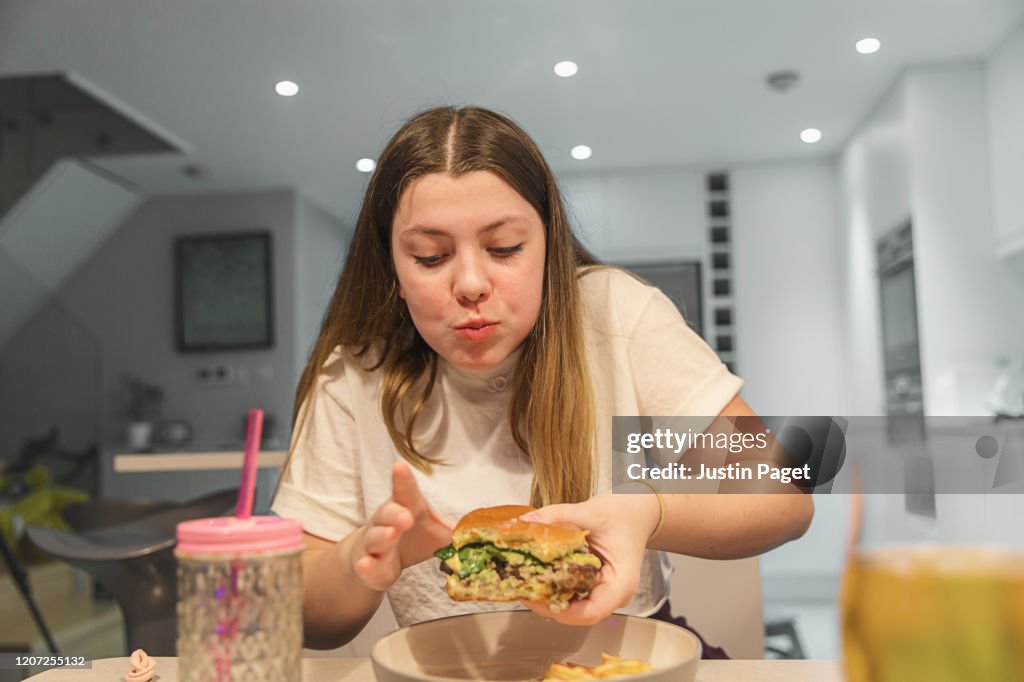
[[[196,441],[241,439],[244,415],[252,407],[266,409],[279,426],[287,426],[295,376],[294,220],[295,195],[290,190],[168,197],[143,205],[57,295],[102,350],[101,399],[121,374],[131,373],[164,388],[164,417],[189,420]],[[273,348],[179,353],[174,341],[174,239],[258,228],[268,229],[273,243]],[[250,381],[200,388],[196,369],[213,363],[245,370]],[[103,440],[122,441],[120,421],[110,409],[104,417]]]

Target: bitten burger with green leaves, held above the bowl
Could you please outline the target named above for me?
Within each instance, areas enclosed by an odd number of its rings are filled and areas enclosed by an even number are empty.
[[[590,552],[587,531],[571,523],[535,523],[519,516],[532,507],[506,505],[469,512],[455,526],[452,544],[434,552],[456,601],[546,602],[559,611],[590,594],[601,560]]]

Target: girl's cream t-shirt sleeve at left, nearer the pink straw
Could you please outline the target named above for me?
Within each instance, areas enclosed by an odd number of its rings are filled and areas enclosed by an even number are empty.
[[[271,505],[274,514],[334,542],[366,523],[355,422],[342,382],[343,377],[322,376],[303,404]]]

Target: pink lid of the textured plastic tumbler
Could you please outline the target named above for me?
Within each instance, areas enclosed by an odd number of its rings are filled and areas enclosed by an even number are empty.
[[[278,516],[198,518],[178,523],[178,552],[241,554],[301,550],[302,524]]]

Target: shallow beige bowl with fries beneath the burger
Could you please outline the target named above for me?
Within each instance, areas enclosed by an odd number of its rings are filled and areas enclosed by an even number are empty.
[[[678,626],[633,615],[583,627],[532,611],[494,611],[401,628],[378,640],[370,657],[381,682],[540,680],[552,663],[596,666],[602,652],[654,669],[616,679],[692,682],[700,640]]]

